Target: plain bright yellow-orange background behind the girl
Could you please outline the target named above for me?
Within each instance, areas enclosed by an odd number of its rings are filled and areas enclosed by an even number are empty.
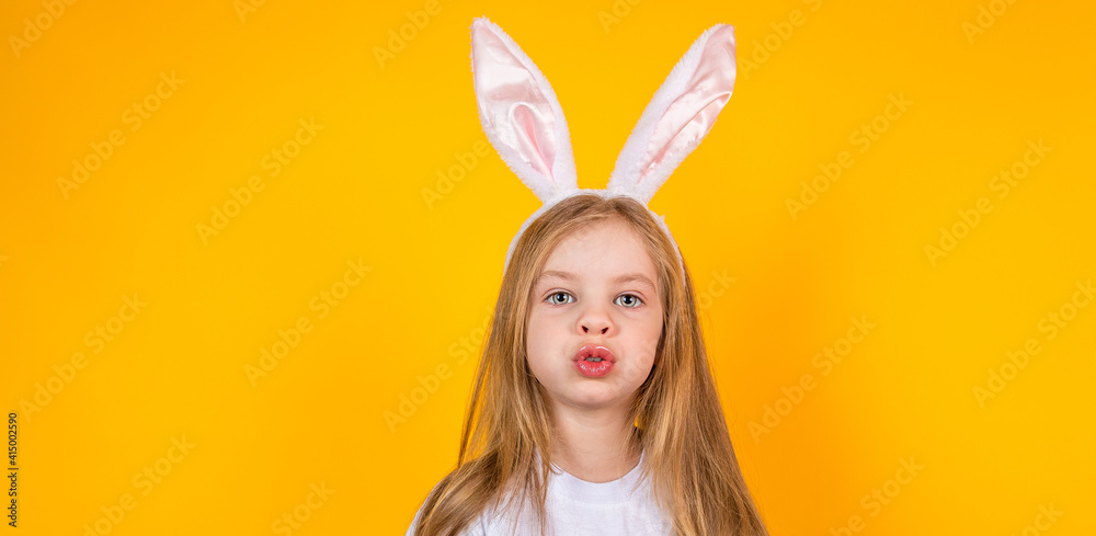
[[[735,26],[734,94],[651,207],[708,293],[722,401],[773,534],[838,534],[854,515],[855,534],[1094,534],[1096,306],[1040,330],[1096,277],[1092,4],[632,3],[441,0],[380,61],[425,2],[269,0],[242,18],[231,0],[80,0],[57,18],[5,2],[0,349],[23,534],[402,534],[455,463],[475,368],[460,352],[479,347],[538,206],[493,148],[450,171],[486,144],[480,15],[552,83],[581,187],[604,186],[693,41]],[[964,31],[991,3],[1000,14]],[[16,55],[37,16],[49,27]],[[184,82],[157,103],[161,73]],[[850,136],[884,124],[889,95],[913,104],[861,151]],[[135,130],[146,99],[159,107]],[[309,119],[322,129],[272,176],[264,157]],[[66,196],[58,179],[114,129],[124,142]],[[1040,139],[1050,152],[1000,198],[994,178]],[[800,182],[842,151],[854,163],[794,218]],[[263,190],[203,240],[251,176]],[[981,197],[992,212],[931,259]],[[369,271],[340,286],[358,260]],[[312,299],[333,290],[349,292],[320,318]],[[135,294],[147,305],[119,324]],[[249,380],[301,317],[311,331]],[[854,317],[876,327],[822,375],[815,354]],[[87,338],[107,326],[110,342]],[[974,388],[1028,339],[1041,352],[980,404]],[[755,440],[751,422],[804,374],[815,388]],[[401,397],[421,403],[386,421]],[[912,479],[898,474],[911,457]],[[875,489],[895,497],[874,509]],[[1063,515],[1047,525],[1040,505]],[[275,524],[294,514],[307,521]]]

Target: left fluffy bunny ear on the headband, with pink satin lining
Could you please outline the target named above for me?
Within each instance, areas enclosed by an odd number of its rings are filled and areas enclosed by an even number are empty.
[[[483,132],[541,202],[579,189],[563,110],[540,69],[498,24],[472,21],[472,79]]]

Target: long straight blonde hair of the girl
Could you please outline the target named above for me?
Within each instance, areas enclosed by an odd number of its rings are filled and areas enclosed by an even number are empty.
[[[504,497],[505,506],[528,501],[544,533],[553,429],[526,355],[533,287],[556,244],[607,218],[635,229],[659,274],[662,338],[632,408],[631,441],[644,453],[643,477],[674,534],[767,536],[731,446],[687,266],[683,274],[670,240],[639,202],[591,194],[559,202],[518,239],[476,373],[457,467],[427,495],[415,536],[455,536]],[[667,361],[675,366],[662,366]]]

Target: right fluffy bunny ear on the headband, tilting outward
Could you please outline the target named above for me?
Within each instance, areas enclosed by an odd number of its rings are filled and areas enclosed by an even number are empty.
[[[628,136],[608,190],[647,203],[693,152],[731,98],[734,28],[717,24],[693,43]]]

